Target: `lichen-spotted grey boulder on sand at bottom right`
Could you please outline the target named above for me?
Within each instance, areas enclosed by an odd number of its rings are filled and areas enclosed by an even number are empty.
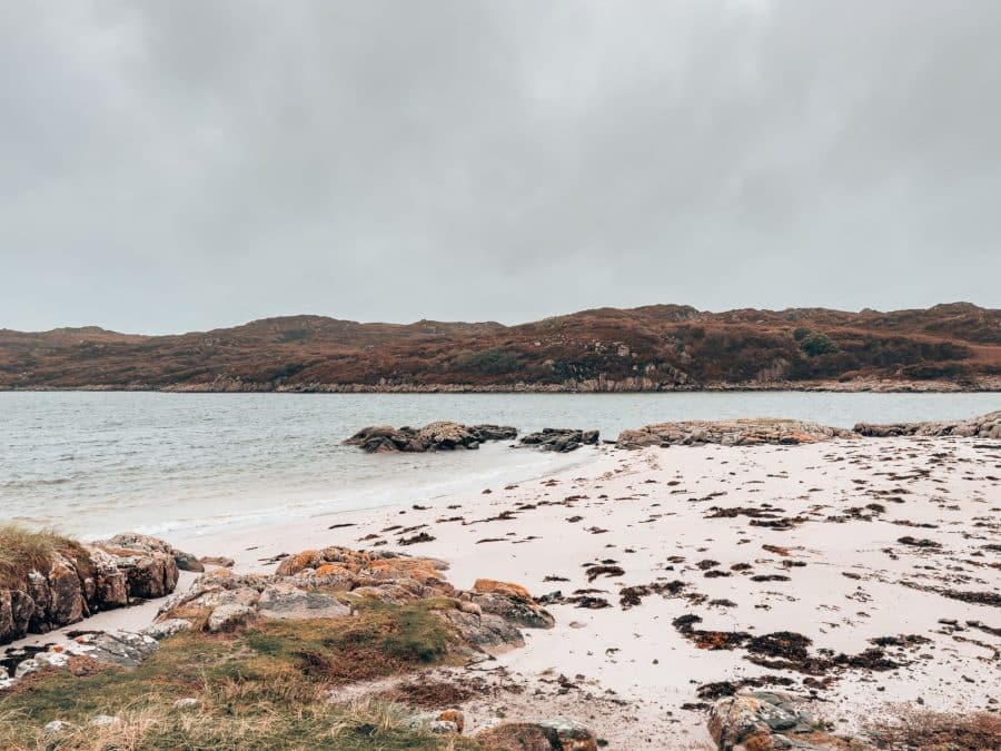
[[[862,737],[833,735],[802,700],[771,691],[721,699],[710,714],[708,730],[722,751],[874,748]]]

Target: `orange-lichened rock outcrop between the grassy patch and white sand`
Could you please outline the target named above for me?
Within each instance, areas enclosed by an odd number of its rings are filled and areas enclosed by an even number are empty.
[[[549,629],[553,616],[522,586],[477,580],[455,589],[447,564],[389,551],[326,547],[286,557],[275,574],[215,571],[160,607],[158,623],[187,621],[207,631],[228,631],[259,619],[341,617],[365,602],[404,605],[428,601],[434,615],[456,635],[467,656],[497,654],[524,645],[519,629]]]

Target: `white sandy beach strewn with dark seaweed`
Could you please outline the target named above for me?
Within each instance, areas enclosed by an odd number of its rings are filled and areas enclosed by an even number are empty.
[[[998,442],[845,438],[591,452],[575,467],[427,504],[400,500],[169,541],[196,555],[232,557],[238,573],[270,572],[276,556],[307,549],[376,545],[440,559],[460,587],[486,576],[517,582],[535,596],[559,591],[546,605],[556,626],[526,632],[525,648],[477,674],[542,691],[527,701],[512,695],[508,715],[576,711],[613,748],[653,737],[668,748],[711,749],[698,686],[752,679],[803,694],[846,731],[915,702],[936,711],[992,709],[998,610],[941,592],[1001,586],[990,549],[1001,532],[1001,481],[991,474],[1001,458]],[[767,512],[765,518],[749,507]],[[418,533],[430,540],[400,544]],[[595,565],[613,569],[596,573]],[[668,580],[682,582],[680,595],[644,590]],[[630,587],[637,602],[620,604]],[[594,591],[589,596],[605,605],[575,605],[574,591]],[[142,607],[150,606],[151,614],[156,602]],[[802,633],[820,655],[861,655],[873,640],[908,636],[904,646],[885,648],[898,665],[892,670],[860,663],[813,675],[795,660],[764,668],[742,648],[697,649],[677,625],[693,615],[698,629],[726,634]],[[961,636],[948,623],[987,630],[969,628]],[[576,676],[574,688],[547,689],[553,674]],[[628,721],[615,702],[628,703]],[[473,727],[490,711],[475,699],[463,709]]]

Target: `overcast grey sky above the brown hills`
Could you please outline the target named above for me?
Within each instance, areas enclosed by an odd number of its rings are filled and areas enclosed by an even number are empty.
[[[0,327],[1001,306],[997,0],[0,4]]]

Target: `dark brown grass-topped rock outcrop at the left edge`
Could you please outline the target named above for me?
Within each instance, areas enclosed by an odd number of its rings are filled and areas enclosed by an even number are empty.
[[[176,551],[156,537],[118,535],[53,552],[42,570],[0,587],[0,644],[162,597],[177,577]]]

